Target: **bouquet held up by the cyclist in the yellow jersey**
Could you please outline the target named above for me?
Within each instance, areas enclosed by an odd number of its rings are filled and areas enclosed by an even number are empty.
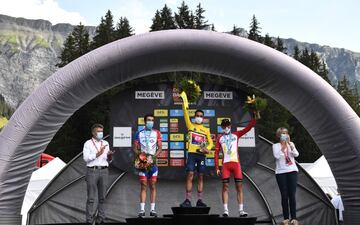
[[[197,102],[201,96],[200,86],[194,80],[183,78],[175,83],[175,87],[181,96],[183,96],[182,93],[185,93],[187,100],[191,103]]]

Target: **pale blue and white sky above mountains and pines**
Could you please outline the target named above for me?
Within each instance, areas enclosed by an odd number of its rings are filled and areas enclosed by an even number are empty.
[[[0,0],[0,14],[46,19],[53,24],[80,22],[97,26],[110,9],[117,22],[127,17],[135,33],[149,31],[155,11],[167,4],[177,11],[182,0]],[[358,0],[187,0],[190,9],[201,3],[209,23],[220,32],[233,26],[248,30],[251,18],[261,34],[346,48],[360,52]]]

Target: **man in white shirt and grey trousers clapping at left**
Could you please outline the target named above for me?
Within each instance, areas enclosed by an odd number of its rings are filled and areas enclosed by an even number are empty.
[[[108,166],[113,152],[109,149],[109,143],[103,140],[104,126],[94,124],[91,127],[92,138],[87,140],[83,148],[83,158],[86,162],[86,223],[94,222],[95,195],[98,193],[98,223],[103,224],[105,220],[104,201],[108,180]]]

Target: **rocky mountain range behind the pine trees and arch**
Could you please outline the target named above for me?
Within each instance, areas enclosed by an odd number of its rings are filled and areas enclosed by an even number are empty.
[[[63,43],[74,26],[52,25],[46,20],[29,20],[0,15],[0,95],[16,108],[24,99],[58,68]],[[95,27],[86,27],[94,36]],[[246,31],[240,28],[240,36]],[[283,39],[288,54],[295,45],[316,51],[329,67],[333,84],[343,76],[360,83],[360,53],[343,48]]]

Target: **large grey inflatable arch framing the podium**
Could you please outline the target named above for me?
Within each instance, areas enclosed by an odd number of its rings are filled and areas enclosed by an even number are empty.
[[[229,77],[286,107],[329,161],[342,192],[346,224],[360,224],[360,119],[350,106],[289,56],[233,35],[197,30],[160,31],[110,43],[58,70],[33,92],[0,134],[0,224],[20,224],[33,165],[77,109],[120,83],[170,71]]]

